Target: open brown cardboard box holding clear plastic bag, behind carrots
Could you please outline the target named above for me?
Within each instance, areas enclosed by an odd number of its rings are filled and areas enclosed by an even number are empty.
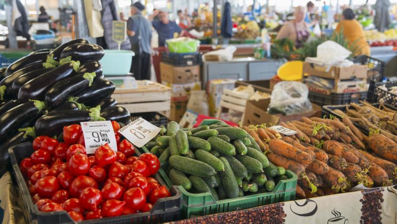
[[[263,124],[273,123],[278,124],[279,122],[286,122],[291,120],[300,120],[303,116],[306,117],[321,117],[321,107],[312,104],[313,110],[305,113],[297,113],[291,115],[282,114],[269,114],[267,113],[267,107],[270,104],[270,99],[260,101],[247,101],[243,125],[248,126],[251,124]]]

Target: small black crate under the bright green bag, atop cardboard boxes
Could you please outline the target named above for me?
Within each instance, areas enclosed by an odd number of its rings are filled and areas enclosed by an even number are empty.
[[[201,54],[197,53],[167,53],[161,54],[161,61],[174,66],[193,66],[201,64]]]

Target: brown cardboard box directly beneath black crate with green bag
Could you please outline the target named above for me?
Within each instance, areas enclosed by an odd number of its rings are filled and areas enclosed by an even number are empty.
[[[168,83],[192,83],[200,81],[200,65],[177,67],[160,63],[161,81]]]

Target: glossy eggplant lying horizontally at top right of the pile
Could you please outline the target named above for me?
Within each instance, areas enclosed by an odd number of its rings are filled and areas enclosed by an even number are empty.
[[[71,56],[72,60],[85,63],[89,60],[100,60],[104,55],[103,48],[96,44],[73,44],[64,49],[61,58]]]

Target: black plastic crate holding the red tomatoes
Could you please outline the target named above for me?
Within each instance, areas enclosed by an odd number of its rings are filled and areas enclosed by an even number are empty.
[[[66,213],[66,211],[58,212],[40,212],[37,206],[33,204],[32,198],[29,194],[29,189],[23,178],[21,170],[19,169],[19,163],[33,153],[32,143],[25,142],[8,149],[11,165],[13,168],[12,174],[14,175],[16,182],[19,187],[19,194],[23,201],[23,212],[25,215],[26,223],[37,223],[37,224],[69,224],[75,223]],[[139,151],[135,153],[140,155]],[[161,179],[160,175],[153,175],[161,185],[167,186]],[[79,222],[79,224],[130,224],[130,223],[166,223],[171,221],[179,220],[180,218],[180,206],[182,193],[175,187],[171,187],[171,197],[160,198],[151,209],[150,212],[124,215],[118,217],[110,217],[103,219],[87,220]]]

